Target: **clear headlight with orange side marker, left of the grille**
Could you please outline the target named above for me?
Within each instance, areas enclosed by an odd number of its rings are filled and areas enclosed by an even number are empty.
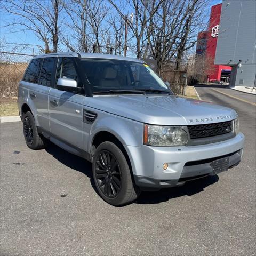
[[[181,126],[160,126],[144,124],[143,143],[149,146],[184,146],[188,134]]]

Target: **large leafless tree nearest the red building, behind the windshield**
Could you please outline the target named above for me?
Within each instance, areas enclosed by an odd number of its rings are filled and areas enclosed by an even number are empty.
[[[205,5],[205,0],[165,0],[151,18],[150,51],[159,74],[170,61],[175,61],[175,70],[180,69],[183,54],[196,43]]]

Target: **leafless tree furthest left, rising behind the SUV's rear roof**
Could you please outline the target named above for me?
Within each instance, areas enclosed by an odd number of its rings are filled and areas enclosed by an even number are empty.
[[[59,14],[63,9],[61,0],[2,0],[1,6],[15,17],[7,26],[16,31],[34,31],[44,43],[45,53],[50,52],[50,44],[53,52],[57,52],[61,26]]]

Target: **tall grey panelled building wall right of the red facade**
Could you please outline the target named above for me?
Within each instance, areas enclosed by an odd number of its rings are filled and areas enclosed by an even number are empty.
[[[256,74],[255,0],[223,0],[214,63],[228,66],[240,63],[242,66],[237,68],[233,85],[253,86]],[[232,75],[234,78],[235,69]],[[243,84],[239,83],[241,79]]]

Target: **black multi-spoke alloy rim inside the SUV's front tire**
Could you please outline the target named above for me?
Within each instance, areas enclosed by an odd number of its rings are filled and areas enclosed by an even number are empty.
[[[101,150],[95,162],[95,177],[102,193],[114,198],[122,187],[122,173],[115,156],[108,150]]]

